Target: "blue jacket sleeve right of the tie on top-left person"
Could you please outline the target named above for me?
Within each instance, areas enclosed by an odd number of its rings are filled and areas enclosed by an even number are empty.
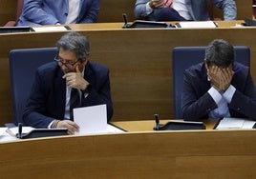
[[[95,23],[97,20],[98,10],[99,0],[84,1],[77,23]]]

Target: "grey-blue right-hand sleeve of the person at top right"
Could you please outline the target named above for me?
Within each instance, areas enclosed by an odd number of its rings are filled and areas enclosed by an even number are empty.
[[[224,11],[224,20],[235,20],[237,18],[237,7],[234,0],[213,0],[213,4]]]

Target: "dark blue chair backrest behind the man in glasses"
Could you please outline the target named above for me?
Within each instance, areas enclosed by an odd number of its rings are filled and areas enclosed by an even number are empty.
[[[22,113],[32,88],[35,70],[53,61],[56,53],[56,48],[10,51],[11,95],[15,125],[22,122]]]

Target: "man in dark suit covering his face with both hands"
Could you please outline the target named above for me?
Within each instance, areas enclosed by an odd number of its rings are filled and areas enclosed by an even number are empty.
[[[204,62],[184,71],[182,105],[184,120],[223,117],[256,120],[256,89],[248,67],[235,62],[233,46],[213,40]]]

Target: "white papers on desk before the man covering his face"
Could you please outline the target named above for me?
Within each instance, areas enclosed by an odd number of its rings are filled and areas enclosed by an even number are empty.
[[[224,117],[216,129],[253,129],[255,121],[243,118]]]

